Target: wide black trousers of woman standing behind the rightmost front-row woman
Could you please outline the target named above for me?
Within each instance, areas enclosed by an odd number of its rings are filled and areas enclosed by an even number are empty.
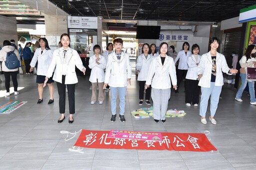
[[[198,80],[186,79],[185,103],[198,104],[200,95],[198,82]]]

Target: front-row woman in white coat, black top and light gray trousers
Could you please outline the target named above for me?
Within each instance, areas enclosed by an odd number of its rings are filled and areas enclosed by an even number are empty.
[[[150,63],[145,89],[151,84],[154,121],[165,122],[168,99],[170,98],[170,83],[174,89],[177,89],[177,78],[173,58],[166,55],[168,44],[162,42],[159,45],[159,51],[160,54],[154,57]]]

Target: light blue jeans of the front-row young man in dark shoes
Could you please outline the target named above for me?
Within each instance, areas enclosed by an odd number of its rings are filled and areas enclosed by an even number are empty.
[[[111,112],[112,115],[116,114],[116,98],[117,91],[119,94],[119,107],[120,107],[120,115],[124,114],[125,109],[125,94],[126,94],[126,86],[125,87],[110,87],[111,88]]]

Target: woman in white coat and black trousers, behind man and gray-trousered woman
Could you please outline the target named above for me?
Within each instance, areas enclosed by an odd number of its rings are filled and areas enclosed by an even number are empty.
[[[147,73],[149,71],[149,65],[152,61],[152,56],[149,54],[151,53],[151,49],[149,48],[149,44],[148,43],[144,43],[142,45],[142,54],[140,54],[137,57],[137,61],[136,61],[136,74],[138,74],[137,80],[138,80],[138,85],[139,85],[139,105],[142,105],[143,103],[143,97],[144,97],[144,88],[145,88],[145,82],[146,82],[146,77],[147,77]],[[149,86],[146,90],[145,90],[145,102],[146,104],[150,105],[150,90],[151,87]]]

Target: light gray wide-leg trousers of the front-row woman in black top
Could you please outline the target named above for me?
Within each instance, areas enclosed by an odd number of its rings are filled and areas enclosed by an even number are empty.
[[[170,98],[170,88],[158,89],[152,87],[151,98],[153,100],[154,119],[165,120],[165,114],[168,107],[168,99]]]

